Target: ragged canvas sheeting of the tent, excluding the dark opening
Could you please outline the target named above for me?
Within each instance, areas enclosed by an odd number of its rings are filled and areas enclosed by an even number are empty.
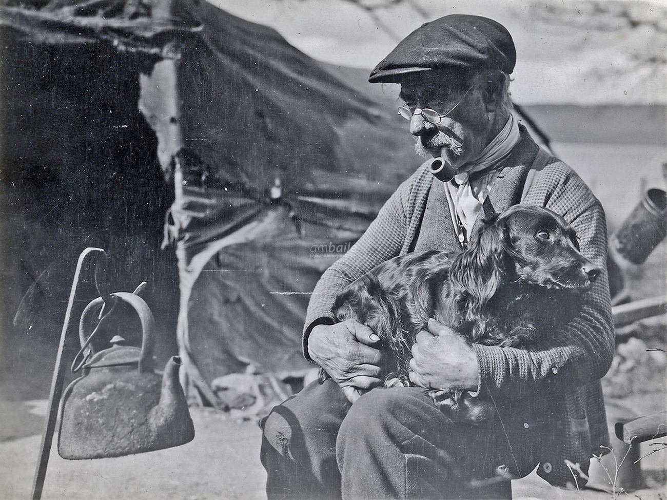
[[[147,61],[139,108],[175,201],[179,347],[197,383],[308,364],[309,293],[420,160],[396,117],[276,31],[205,2],[5,4],[47,44],[107,43]],[[165,292],[167,292],[165,290]]]

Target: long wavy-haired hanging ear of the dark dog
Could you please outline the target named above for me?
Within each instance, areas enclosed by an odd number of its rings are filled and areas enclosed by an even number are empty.
[[[470,247],[452,263],[450,276],[457,292],[466,299],[467,313],[479,317],[508,267],[506,221],[497,216],[494,222],[485,221],[474,236]]]

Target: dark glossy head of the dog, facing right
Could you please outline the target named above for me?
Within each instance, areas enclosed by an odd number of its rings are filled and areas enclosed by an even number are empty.
[[[486,222],[477,246],[482,255],[496,255],[509,280],[524,284],[585,291],[602,272],[581,254],[572,226],[538,206],[515,205]]]

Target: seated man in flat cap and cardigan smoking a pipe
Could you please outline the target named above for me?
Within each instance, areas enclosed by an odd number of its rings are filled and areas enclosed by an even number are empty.
[[[378,337],[352,320],[336,324],[331,314],[336,294],[380,262],[460,250],[486,210],[520,202],[562,214],[582,254],[605,268],[600,203],[512,117],[515,60],[502,25],[448,15],[408,35],[371,73],[371,82],[400,83],[400,113],[416,151],[444,158],[456,177],[434,178],[427,160],[317,283],[303,352],[333,381],[309,385],[262,422],[269,499],[511,497],[507,479],[538,465],[554,485],[582,485],[566,461],[586,471],[608,443],[599,383],[614,350],[606,275],[581,314],[538,332],[524,349],[470,345],[432,321],[412,350],[410,380],[418,387],[368,391],[384,379]],[[495,418],[456,425],[423,388],[479,394],[494,402]],[[362,396],[352,405],[342,389]]]

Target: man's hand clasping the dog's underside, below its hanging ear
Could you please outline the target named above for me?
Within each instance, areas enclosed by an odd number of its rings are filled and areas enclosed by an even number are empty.
[[[426,389],[477,391],[477,354],[463,336],[434,319],[417,334],[412,346],[410,381]]]

